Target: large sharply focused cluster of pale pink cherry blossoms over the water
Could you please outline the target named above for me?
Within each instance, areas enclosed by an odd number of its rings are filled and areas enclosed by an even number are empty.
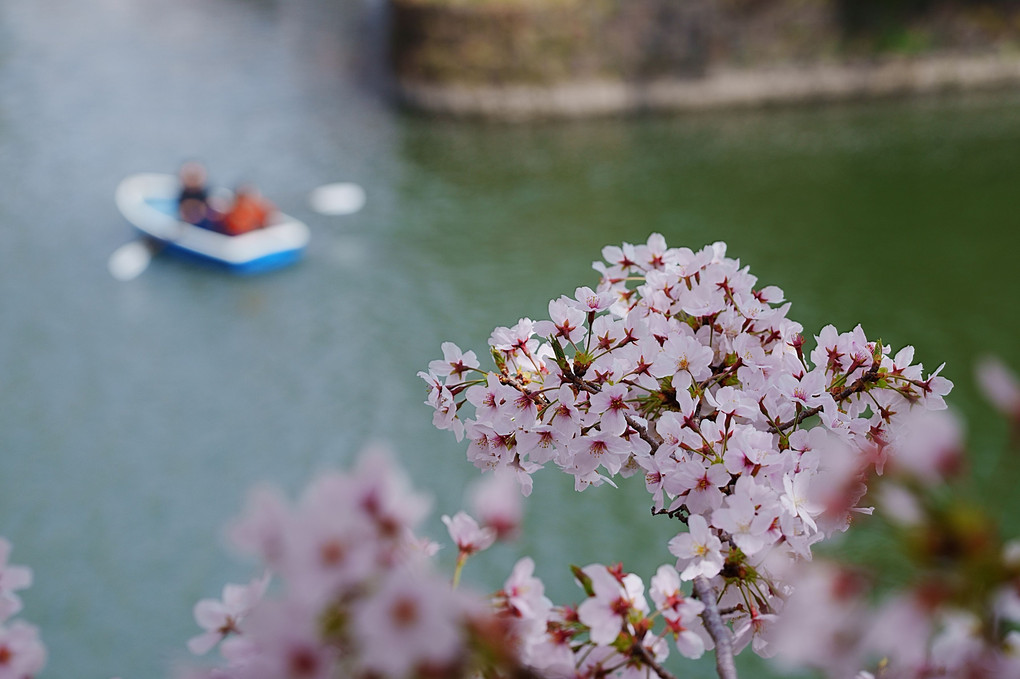
[[[550,463],[578,490],[644,474],[653,513],[685,524],[668,550],[680,580],[712,599],[711,640],[768,656],[789,564],[871,512],[859,506],[866,479],[907,448],[912,411],[944,409],[952,383],[860,326],[826,326],[808,352],[782,292],[725,252],[659,234],[607,247],[597,290],[493,332],[495,370],[446,343],[420,375],[436,426],[524,494]],[[710,624],[716,613],[724,626]]]

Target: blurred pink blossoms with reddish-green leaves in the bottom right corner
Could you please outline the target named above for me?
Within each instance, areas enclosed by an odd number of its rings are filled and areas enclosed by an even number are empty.
[[[1004,414],[1020,414],[1020,385],[1001,362],[982,362],[978,382]],[[951,489],[964,462],[957,418],[927,413],[909,426],[909,445],[872,483],[906,582],[878,596],[880,578],[860,567],[799,565],[774,630],[778,658],[831,679],[1020,677],[1020,541],[1004,541]]]

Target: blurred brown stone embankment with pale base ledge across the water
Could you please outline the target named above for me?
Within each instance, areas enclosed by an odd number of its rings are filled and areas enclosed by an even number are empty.
[[[1020,85],[1020,10],[1001,6],[855,30],[854,0],[390,2],[397,96],[434,113],[578,117]]]

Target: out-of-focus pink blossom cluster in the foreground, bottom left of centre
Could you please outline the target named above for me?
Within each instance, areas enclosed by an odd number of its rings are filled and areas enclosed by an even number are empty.
[[[414,534],[428,506],[378,451],[351,473],[319,477],[293,505],[274,489],[254,491],[231,533],[266,574],[196,605],[205,632],[189,647],[202,655],[218,644],[224,664],[186,676],[466,677],[494,663],[513,668],[513,639],[492,606],[431,568],[438,544]],[[466,550],[512,531],[515,512],[491,503],[481,514],[493,525],[446,519]]]

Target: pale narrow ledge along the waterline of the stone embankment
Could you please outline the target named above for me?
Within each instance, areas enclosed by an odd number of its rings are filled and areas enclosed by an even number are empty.
[[[1020,85],[1020,58],[927,57],[867,65],[720,68],[697,80],[480,86],[403,82],[397,97],[423,112],[493,119],[700,111],[989,90]]]

